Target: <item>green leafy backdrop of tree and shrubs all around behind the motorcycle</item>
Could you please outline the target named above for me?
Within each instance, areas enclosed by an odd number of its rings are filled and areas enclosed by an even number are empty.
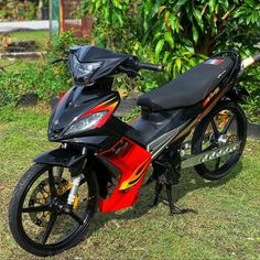
[[[238,50],[242,57],[260,52],[258,0],[82,0],[76,14],[94,17],[95,44],[166,65],[164,74],[142,72],[143,82],[119,79],[118,86],[127,89],[148,91],[159,87],[223,50]],[[73,44],[89,42],[75,39],[72,32],[55,36],[48,45],[47,61],[64,56]],[[35,72],[40,72],[39,77]],[[9,77],[15,80],[8,80]],[[48,86],[32,84],[39,79]],[[47,99],[72,84],[65,66],[54,68],[46,63],[39,64],[34,72],[29,67],[19,77],[0,74],[0,80],[1,91],[9,88],[9,97],[15,96],[11,100],[17,100],[26,88]],[[254,66],[241,83],[252,95],[247,110],[254,115],[260,107],[259,82],[260,71]],[[18,85],[19,91],[11,94]]]

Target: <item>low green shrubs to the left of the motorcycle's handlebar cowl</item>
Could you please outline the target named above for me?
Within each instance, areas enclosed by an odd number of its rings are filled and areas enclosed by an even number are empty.
[[[50,100],[59,93],[66,91],[73,84],[66,63],[52,65],[57,57],[66,57],[69,46],[87,43],[78,41],[73,32],[56,35],[47,47],[48,55],[39,63],[26,63],[23,69],[0,73],[0,107],[15,105],[22,95],[35,93],[42,100]]]

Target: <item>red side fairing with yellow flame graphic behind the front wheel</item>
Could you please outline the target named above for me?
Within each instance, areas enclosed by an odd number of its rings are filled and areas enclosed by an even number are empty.
[[[98,155],[121,173],[110,197],[100,199],[99,210],[107,213],[132,206],[138,199],[138,192],[151,163],[151,154],[137,143],[122,138],[113,148]]]

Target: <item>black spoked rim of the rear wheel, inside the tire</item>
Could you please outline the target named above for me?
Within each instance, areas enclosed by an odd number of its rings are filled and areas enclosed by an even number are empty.
[[[203,133],[202,152],[242,141],[238,117],[231,109],[217,112]],[[205,171],[219,175],[230,169],[240,156],[239,150],[202,164]]]

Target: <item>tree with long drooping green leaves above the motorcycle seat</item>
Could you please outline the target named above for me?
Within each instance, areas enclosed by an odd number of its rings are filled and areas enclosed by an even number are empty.
[[[239,41],[253,51],[258,41],[253,37],[260,26],[258,0],[85,0],[85,3],[97,19],[96,26],[101,24],[99,35],[105,35],[109,46],[128,51],[129,46],[134,48],[136,41],[140,47],[150,47],[154,53],[152,59],[167,64],[173,76],[194,66],[201,57],[225,50],[227,44],[232,48]],[[245,32],[247,37],[241,37]]]

